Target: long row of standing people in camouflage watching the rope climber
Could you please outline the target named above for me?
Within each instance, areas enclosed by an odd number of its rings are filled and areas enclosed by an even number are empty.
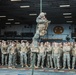
[[[31,67],[33,59],[33,43],[28,41],[0,41],[1,64],[13,68],[20,62],[21,67]],[[39,42],[36,51],[36,68],[75,69],[76,42]],[[19,57],[20,58],[19,58]]]

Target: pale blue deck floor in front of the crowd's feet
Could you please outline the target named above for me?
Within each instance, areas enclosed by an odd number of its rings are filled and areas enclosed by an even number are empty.
[[[32,73],[31,68],[12,68],[9,69],[7,67],[0,67],[0,75],[31,75]],[[34,75],[76,75],[75,70],[55,70],[50,68],[43,68],[43,69],[35,69]]]

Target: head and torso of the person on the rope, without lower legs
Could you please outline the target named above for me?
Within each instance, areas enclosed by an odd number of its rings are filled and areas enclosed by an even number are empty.
[[[47,33],[46,30],[48,27],[48,23],[50,23],[50,21],[46,19],[45,15],[46,13],[41,12],[36,19],[36,22],[38,23],[37,29],[39,29],[40,36],[44,36]]]

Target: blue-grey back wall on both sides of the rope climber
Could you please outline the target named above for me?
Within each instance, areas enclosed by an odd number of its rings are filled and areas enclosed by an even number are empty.
[[[17,31],[18,34],[22,32],[33,32],[35,33],[36,25],[32,25],[32,27],[26,28],[26,25],[13,25],[13,26],[6,26],[5,29],[1,30],[1,34],[3,35],[5,31]],[[64,32],[62,34],[55,34],[53,32],[53,28],[55,26],[62,26],[64,28]],[[70,24],[50,24],[47,30],[47,34],[43,38],[49,39],[62,39],[66,40],[66,36],[69,35],[71,38],[71,33],[73,32],[73,27]],[[71,38],[70,41],[73,41]]]

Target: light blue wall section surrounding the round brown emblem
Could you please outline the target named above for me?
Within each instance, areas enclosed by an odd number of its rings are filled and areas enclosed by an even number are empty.
[[[62,34],[55,34],[54,31],[53,31],[53,28],[55,26],[62,26],[64,28],[64,31]],[[66,40],[66,36],[69,35],[69,37],[71,38],[71,32],[72,32],[72,28],[70,29],[71,25],[69,24],[52,24],[52,25],[49,25],[48,27],[48,33],[47,35],[44,37],[44,38],[52,38],[52,39],[63,39],[63,40]],[[71,39],[72,40],[72,39]]]

